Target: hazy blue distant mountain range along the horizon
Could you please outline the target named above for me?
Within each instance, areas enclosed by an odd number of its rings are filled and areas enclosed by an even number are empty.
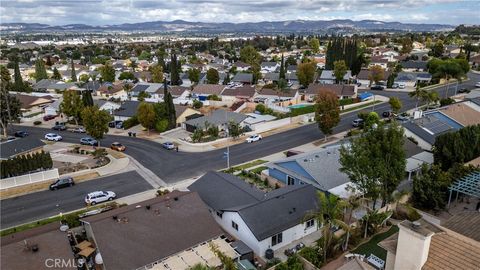
[[[386,31],[445,31],[455,26],[445,24],[414,24],[383,22],[374,20],[330,20],[330,21],[275,21],[252,23],[204,23],[176,21],[154,21],[124,23],[116,25],[91,26],[86,24],[67,24],[51,26],[39,23],[2,23],[2,32],[106,32],[106,31],[148,31],[148,32],[186,32],[186,33],[356,33]]]

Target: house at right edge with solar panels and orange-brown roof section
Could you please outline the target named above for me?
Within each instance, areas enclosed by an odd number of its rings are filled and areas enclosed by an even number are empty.
[[[403,127],[407,137],[413,137],[421,148],[429,151],[437,136],[478,124],[480,106],[465,101],[424,112],[419,118],[403,123]]]

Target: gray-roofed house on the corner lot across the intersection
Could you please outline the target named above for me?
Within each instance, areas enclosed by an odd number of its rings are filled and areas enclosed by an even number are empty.
[[[216,126],[219,131],[227,130],[228,124],[233,121],[239,124],[241,127],[245,125],[244,121],[247,118],[247,115],[226,111],[226,110],[215,110],[209,115],[204,115],[198,118],[190,119],[182,123],[182,128],[194,132],[195,129],[205,129],[206,125]]]

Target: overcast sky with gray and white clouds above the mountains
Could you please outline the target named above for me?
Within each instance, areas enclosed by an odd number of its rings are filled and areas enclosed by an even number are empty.
[[[480,0],[1,0],[0,21],[63,25],[146,21],[382,20],[480,24]]]

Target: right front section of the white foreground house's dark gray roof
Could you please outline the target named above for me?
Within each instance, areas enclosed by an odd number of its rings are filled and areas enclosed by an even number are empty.
[[[238,211],[259,241],[302,223],[318,207],[317,189],[312,185],[288,186],[272,193]]]

